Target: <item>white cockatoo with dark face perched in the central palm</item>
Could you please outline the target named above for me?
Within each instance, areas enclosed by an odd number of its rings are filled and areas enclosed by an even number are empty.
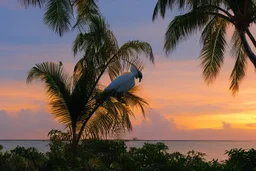
[[[125,93],[132,89],[135,85],[135,78],[142,79],[142,73],[134,65],[131,66],[131,72],[126,72],[116,77],[104,90],[104,92]]]

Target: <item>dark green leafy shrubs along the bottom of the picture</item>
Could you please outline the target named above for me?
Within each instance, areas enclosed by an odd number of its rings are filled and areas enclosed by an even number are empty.
[[[124,141],[86,139],[77,153],[70,143],[56,138],[46,154],[35,148],[0,153],[2,171],[254,171],[256,150],[231,149],[228,159],[206,161],[205,154],[189,151],[168,153],[164,143],[145,143],[142,148],[128,149]]]

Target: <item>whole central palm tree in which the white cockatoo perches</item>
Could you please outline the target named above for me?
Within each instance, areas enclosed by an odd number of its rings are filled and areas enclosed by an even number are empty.
[[[100,137],[116,128],[130,131],[130,116],[138,108],[144,114],[148,105],[136,93],[135,86],[122,98],[115,93],[104,93],[99,81],[108,72],[111,79],[135,65],[142,69],[139,55],[144,54],[151,62],[154,56],[147,42],[129,41],[118,46],[117,40],[102,17],[95,18],[88,31],[80,33],[74,42],[74,52],[83,54],[71,76],[63,65],[53,62],[36,64],[27,76],[27,82],[43,81],[49,96],[51,113],[72,130],[72,144],[76,148],[82,135]]]

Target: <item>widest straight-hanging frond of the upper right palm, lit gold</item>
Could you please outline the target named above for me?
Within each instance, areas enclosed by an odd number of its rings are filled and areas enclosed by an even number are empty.
[[[203,77],[208,84],[214,81],[223,64],[226,27],[227,21],[214,17],[202,32],[203,48],[200,60],[203,68]]]

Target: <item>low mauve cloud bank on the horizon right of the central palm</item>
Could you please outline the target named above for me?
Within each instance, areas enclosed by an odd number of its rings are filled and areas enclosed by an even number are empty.
[[[255,130],[233,128],[228,122],[221,122],[220,128],[178,129],[175,119],[166,119],[151,112],[149,119],[134,128],[126,138],[137,137],[146,140],[255,140]],[[253,125],[254,126],[254,125]]]

